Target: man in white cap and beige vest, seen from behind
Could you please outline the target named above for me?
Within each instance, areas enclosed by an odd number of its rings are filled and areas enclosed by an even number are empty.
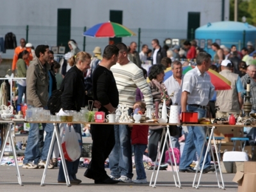
[[[231,71],[232,63],[230,60],[221,61],[221,76],[231,82],[230,90],[217,90],[216,106],[220,110],[217,111],[216,117],[228,116],[228,113],[239,114],[243,106],[241,92],[243,92],[243,84],[238,74]]]

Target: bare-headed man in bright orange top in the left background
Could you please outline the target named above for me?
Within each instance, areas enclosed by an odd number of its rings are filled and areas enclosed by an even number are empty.
[[[19,56],[20,52],[22,52],[24,50],[27,50],[29,52],[29,57],[27,60],[25,60],[27,66],[29,66],[29,61],[33,60],[33,56],[31,54],[31,48],[26,47],[25,45],[26,45],[26,40],[24,38],[20,38],[20,46],[15,48],[14,54],[13,54],[13,60],[12,60],[12,71],[13,72],[16,69],[16,63],[18,61],[18,56]]]

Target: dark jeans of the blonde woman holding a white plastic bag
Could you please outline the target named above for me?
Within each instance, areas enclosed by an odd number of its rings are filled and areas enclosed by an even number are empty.
[[[80,134],[81,140],[82,140],[81,124],[74,124],[73,127],[74,127],[75,131]],[[76,173],[77,173],[78,166],[79,166],[79,160],[80,160],[80,158],[78,158],[76,161],[72,161],[72,162],[65,160],[65,162],[67,164],[68,177],[70,180],[77,179]],[[65,179],[65,175],[64,175],[64,171],[63,171],[62,162],[61,162],[59,175],[58,175],[58,181],[65,181],[65,180],[66,179]]]

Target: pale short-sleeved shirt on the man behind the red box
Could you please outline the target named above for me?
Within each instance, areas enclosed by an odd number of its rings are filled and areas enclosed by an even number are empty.
[[[201,74],[196,66],[189,70],[182,81],[182,92],[189,92],[187,104],[206,106],[214,95],[214,86],[207,72]]]

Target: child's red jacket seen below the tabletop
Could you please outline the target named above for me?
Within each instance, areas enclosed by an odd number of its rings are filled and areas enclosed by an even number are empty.
[[[133,125],[131,133],[132,145],[148,144],[148,125]]]

